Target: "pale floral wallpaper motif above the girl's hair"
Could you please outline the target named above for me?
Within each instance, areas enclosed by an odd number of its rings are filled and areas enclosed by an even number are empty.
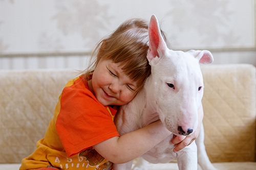
[[[57,21],[57,28],[63,35],[78,33],[85,44],[99,40],[100,30],[109,25],[108,5],[99,5],[97,1],[64,1],[56,7],[57,13],[52,17]]]

